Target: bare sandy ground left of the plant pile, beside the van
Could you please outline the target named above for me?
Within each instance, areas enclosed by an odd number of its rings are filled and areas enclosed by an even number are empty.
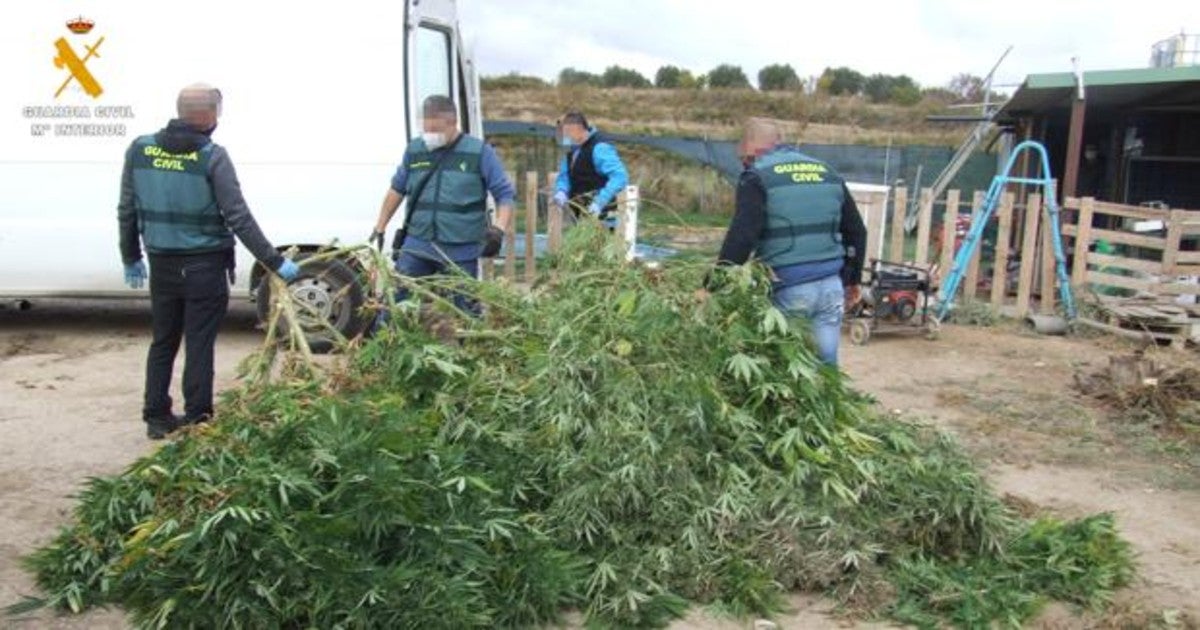
[[[119,473],[154,450],[142,424],[150,342],[149,302],[50,302],[0,311],[0,607],[36,593],[20,556],[70,520],[71,494],[89,476]],[[260,342],[254,316],[235,304],[217,347],[217,389]],[[175,370],[176,413],[180,413]],[[122,629],[114,611],[38,616],[0,628]]]

